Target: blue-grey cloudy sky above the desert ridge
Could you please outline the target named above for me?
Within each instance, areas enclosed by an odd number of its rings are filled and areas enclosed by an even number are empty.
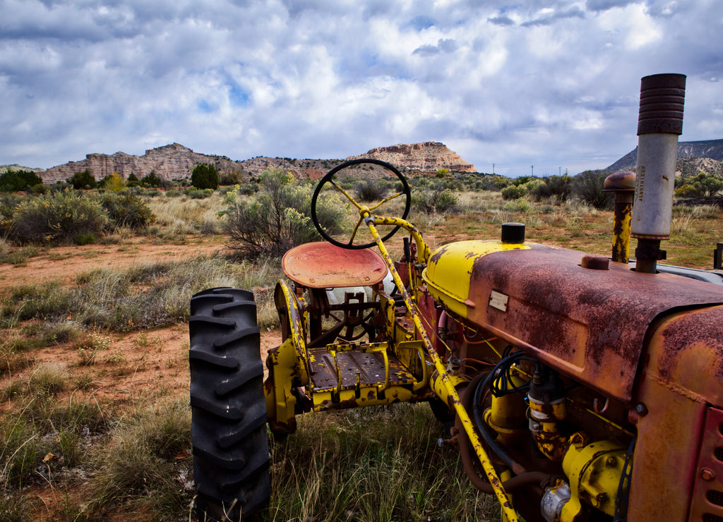
[[[640,79],[723,138],[720,0],[0,0],[0,164],[177,142],[233,160],[443,142],[480,172],[636,147]],[[534,169],[531,168],[534,165]]]

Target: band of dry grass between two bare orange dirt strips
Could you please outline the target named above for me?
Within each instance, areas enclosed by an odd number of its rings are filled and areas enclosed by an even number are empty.
[[[170,326],[188,320],[189,301],[195,292],[241,287],[265,289],[257,292],[257,301],[259,326],[266,328],[278,323],[268,289],[273,290],[279,277],[279,267],[271,261],[233,264],[220,257],[95,269],[78,274],[74,289],[58,281],[15,287],[3,303],[0,321],[58,322],[72,315],[72,323],[91,329],[132,331]]]

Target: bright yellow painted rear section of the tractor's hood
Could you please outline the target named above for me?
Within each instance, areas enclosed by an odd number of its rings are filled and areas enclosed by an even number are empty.
[[[470,240],[449,243],[432,253],[427,268],[422,272],[422,279],[432,297],[466,318],[468,307],[474,305],[469,302],[469,283],[475,261],[494,252],[529,248],[529,245],[501,241]]]

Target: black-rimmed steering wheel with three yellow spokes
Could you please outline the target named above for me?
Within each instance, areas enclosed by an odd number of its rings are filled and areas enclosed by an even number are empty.
[[[397,192],[387,198],[382,199],[379,203],[375,204],[374,206],[365,207],[359,203],[356,202],[354,197],[351,196],[347,191],[345,191],[341,186],[338,185],[338,183],[335,182],[334,175],[338,173],[340,170],[351,167],[352,165],[361,165],[363,163],[371,163],[372,165],[380,165],[380,167],[383,167],[387,170],[390,170],[394,173],[394,175],[401,181],[402,183],[402,191]],[[356,206],[357,209],[359,209],[359,221],[356,222],[356,226],[354,227],[354,231],[351,232],[351,238],[349,239],[348,243],[342,243],[341,241],[335,240],[332,238],[319,224],[319,218],[317,217],[317,201],[319,198],[319,194],[322,191],[322,188],[329,183],[331,186],[333,186],[337,191],[343,194],[343,196],[346,197],[349,201],[351,201],[351,204]],[[407,214],[409,214],[409,206],[411,206],[411,192],[409,191],[409,185],[406,182],[406,179],[402,175],[397,168],[395,168],[393,165],[391,165],[388,162],[382,161],[382,160],[373,160],[371,158],[361,158],[359,160],[348,160],[341,165],[337,165],[335,168],[330,170],[321,180],[319,181],[319,184],[317,185],[316,190],[314,191],[314,196],[312,196],[312,222],[314,222],[314,226],[316,227],[317,231],[320,233],[322,238],[327,240],[332,245],[339,246],[341,248],[348,248],[350,250],[360,250],[362,248],[369,248],[377,243],[371,242],[371,243],[364,243],[364,244],[356,244],[354,243],[354,238],[356,238],[356,232],[359,230],[359,226],[364,222],[364,214],[361,213],[363,209],[367,209],[369,212],[374,211],[375,209],[379,208],[383,204],[387,203],[388,201],[398,198],[399,196],[404,196],[405,198],[405,204],[404,204],[404,212],[402,214],[401,219],[406,219]],[[399,230],[399,226],[394,227],[391,232],[388,232],[387,235],[382,237],[382,241],[386,241],[389,238],[391,238],[396,232]]]

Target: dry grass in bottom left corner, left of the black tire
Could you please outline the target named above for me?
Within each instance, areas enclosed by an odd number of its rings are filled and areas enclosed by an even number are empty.
[[[25,521],[40,508],[28,487],[61,492],[79,479],[86,491],[65,500],[62,520],[101,520],[121,506],[129,519],[155,511],[179,520],[192,499],[190,446],[187,398],[119,417],[93,396],[25,394],[0,417],[0,520]]]

